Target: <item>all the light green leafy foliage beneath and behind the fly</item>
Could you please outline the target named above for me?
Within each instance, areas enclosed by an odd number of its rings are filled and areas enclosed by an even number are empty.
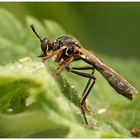
[[[98,72],[87,102],[93,112],[87,115],[90,127],[84,127],[79,102],[86,80],[65,71],[55,78],[57,65],[39,62],[39,41],[29,25],[50,39],[66,34],[64,29],[33,17],[24,27],[9,12],[0,9],[0,15],[0,137],[131,137],[131,129],[140,129],[140,96],[127,101]],[[25,57],[31,59],[19,62]],[[140,90],[136,60],[101,57]]]

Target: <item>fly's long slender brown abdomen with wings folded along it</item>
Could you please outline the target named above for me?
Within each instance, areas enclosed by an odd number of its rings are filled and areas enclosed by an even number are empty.
[[[122,76],[115,72],[110,67],[106,66],[97,57],[82,48],[81,51],[84,54],[84,58],[89,64],[93,65],[108,83],[117,91],[117,93],[125,96],[129,100],[133,99],[133,94],[137,93],[137,90]]]

